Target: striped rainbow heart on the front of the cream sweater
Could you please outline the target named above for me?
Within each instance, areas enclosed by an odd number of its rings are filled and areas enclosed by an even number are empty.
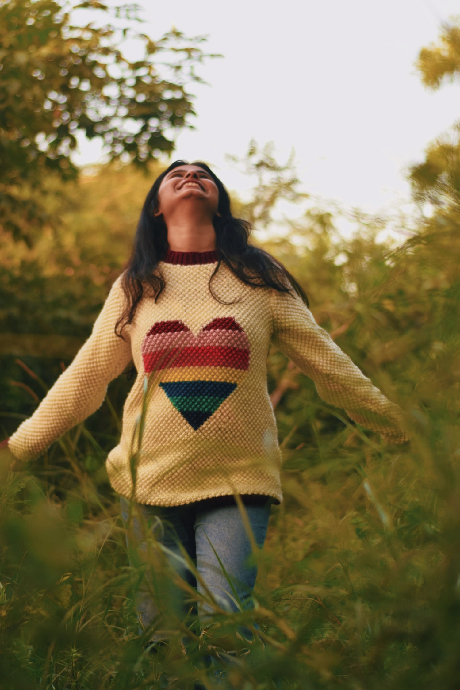
[[[249,356],[233,317],[213,319],[198,335],[181,321],[159,321],[142,343],[146,373],[160,373],[160,388],[195,431],[237,388]]]

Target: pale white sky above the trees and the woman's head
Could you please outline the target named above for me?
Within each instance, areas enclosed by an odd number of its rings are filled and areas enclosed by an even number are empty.
[[[119,4],[110,2],[110,4]],[[460,115],[460,84],[430,91],[414,68],[458,0],[142,0],[142,30],[172,26],[209,34],[223,54],[199,68],[196,130],[181,132],[174,158],[210,162],[230,190],[250,187],[226,161],[250,139],[273,141],[284,161],[294,147],[312,195],[377,213],[409,199],[404,168]],[[100,155],[81,146],[78,161]]]

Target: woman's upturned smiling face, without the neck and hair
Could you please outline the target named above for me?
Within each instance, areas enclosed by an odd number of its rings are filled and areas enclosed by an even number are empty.
[[[219,206],[219,190],[206,170],[199,166],[183,165],[170,170],[163,177],[158,193],[158,206],[155,215],[163,215],[167,221],[178,205],[198,204],[208,213],[211,221]]]

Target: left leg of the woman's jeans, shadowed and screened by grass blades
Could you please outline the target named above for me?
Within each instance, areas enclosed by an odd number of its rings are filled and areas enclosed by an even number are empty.
[[[141,566],[134,584],[134,600],[141,623],[139,634],[152,627],[149,639],[164,640],[170,636],[171,627],[177,630],[171,613],[183,620],[190,608],[185,601],[186,593],[168,578],[165,564],[172,566],[191,586],[196,585],[193,573],[183,563],[178,545],[179,540],[194,562],[194,516],[187,506],[165,508],[133,503],[132,521],[128,524],[129,513],[130,502],[121,497],[130,565]],[[166,546],[170,553],[161,551],[158,543]]]

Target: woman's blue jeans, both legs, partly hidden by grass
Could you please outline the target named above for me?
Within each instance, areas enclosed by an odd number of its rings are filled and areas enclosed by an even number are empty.
[[[262,505],[244,506],[253,544],[259,549],[265,542],[271,505],[267,497]],[[148,640],[167,639],[174,629],[177,632],[177,622],[196,611],[190,591],[168,578],[168,566],[196,588],[201,629],[219,609],[252,609],[257,564],[251,559],[251,540],[237,505],[147,506],[121,497],[121,515],[127,526],[130,564],[143,566],[135,603]],[[240,631],[251,636],[247,628]]]

